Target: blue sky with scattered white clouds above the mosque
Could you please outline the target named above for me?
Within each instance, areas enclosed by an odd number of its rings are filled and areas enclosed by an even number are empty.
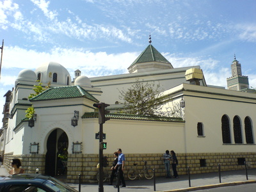
[[[47,61],[72,77],[77,68],[88,77],[128,73],[149,33],[174,68],[200,65],[207,84],[227,86],[236,54],[255,87],[255,10],[255,0],[1,0],[0,95],[20,70]]]

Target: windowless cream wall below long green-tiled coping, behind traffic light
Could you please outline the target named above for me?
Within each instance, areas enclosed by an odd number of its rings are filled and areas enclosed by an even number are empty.
[[[87,120],[85,120],[86,122]],[[88,120],[89,121],[89,120]],[[90,120],[90,124],[93,124]],[[95,121],[95,120],[94,120]],[[99,140],[95,140],[95,133],[99,132],[97,120],[95,132],[88,131],[88,140],[94,140],[94,152],[99,153]],[[164,153],[165,150],[184,152],[184,123],[147,122],[138,120],[109,120],[103,125],[106,133],[107,149],[104,153],[111,154],[116,148],[122,148],[124,153]],[[86,139],[87,140],[87,139]],[[84,141],[86,143],[86,141]],[[85,148],[89,148],[87,143]]]

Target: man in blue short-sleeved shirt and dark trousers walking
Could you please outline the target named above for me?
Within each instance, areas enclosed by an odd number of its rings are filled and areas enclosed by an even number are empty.
[[[125,180],[124,180],[125,156],[124,156],[124,154],[122,154],[122,149],[121,148],[118,148],[117,152],[118,152],[118,161],[117,161],[117,164],[115,166],[115,170],[117,169],[117,173],[120,176],[120,180],[122,180],[121,188],[125,188],[126,187]],[[117,182],[116,182],[116,186],[114,186],[114,188],[118,188],[118,185],[120,184],[120,180],[118,180],[118,179],[116,179],[116,180],[117,180]]]

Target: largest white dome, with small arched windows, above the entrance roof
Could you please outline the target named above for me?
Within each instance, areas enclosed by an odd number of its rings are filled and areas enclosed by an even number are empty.
[[[61,85],[70,85],[71,79],[68,70],[60,65],[60,63],[49,62],[40,65],[35,70],[36,76],[41,74],[40,81],[42,83],[51,82],[51,84],[61,84]],[[51,74],[51,77],[49,77]],[[57,74],[56,82],[53,81],[54,74]]]

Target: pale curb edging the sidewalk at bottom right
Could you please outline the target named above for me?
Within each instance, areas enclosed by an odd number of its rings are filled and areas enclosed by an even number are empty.
[[[256,183],[256,180],[248,180],[248,181],[237,181],[237,182],[224,182],[220,184],[212,184],[207,186],[198,186],[198,187],[191,187],[191,188],[185,188],[185,189],[173,189],[168,191],[158,191],[158,192],[186,192],[186,191],[197,191],[201,189],[212,189],[212,188],[221,188],[225,186],[237,186],[237,185],[243,185],[243,184],[252,184]]]

